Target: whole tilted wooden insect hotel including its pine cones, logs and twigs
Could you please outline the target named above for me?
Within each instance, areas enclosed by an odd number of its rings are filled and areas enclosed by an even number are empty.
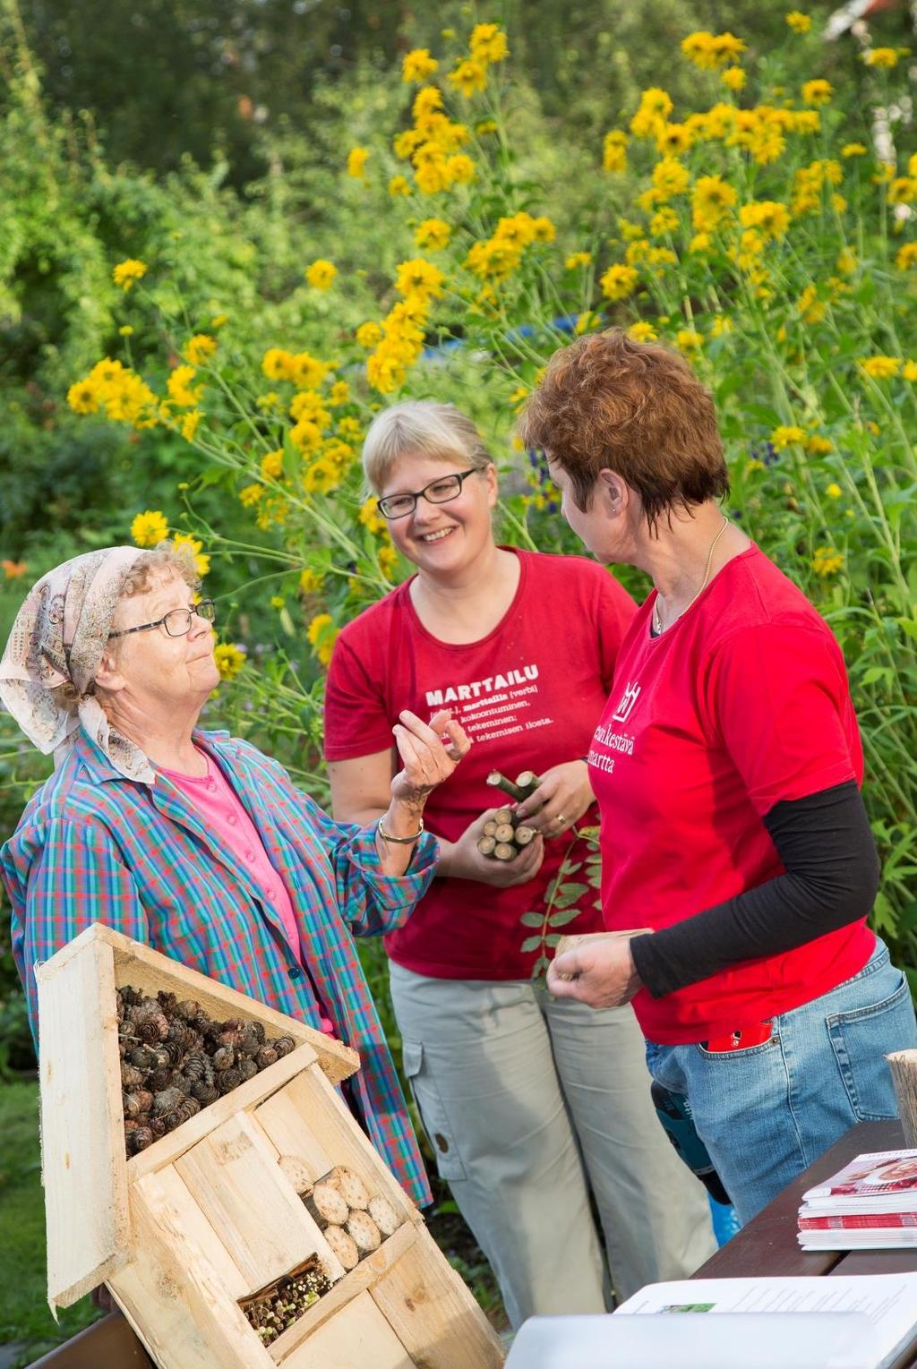
[[[37,983],[52,1309],[105,1283],[160,1369],[502,1364],[354,1051],[100,924]]]

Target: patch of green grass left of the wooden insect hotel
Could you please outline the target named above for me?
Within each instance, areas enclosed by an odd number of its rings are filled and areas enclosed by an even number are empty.
[[[74,1336],[99,1313],[83,1298],[59,1313],[45,1301],[45,1209],[38,1084],[0,1083],[0,1346],[22,1343],[14,1369]]]

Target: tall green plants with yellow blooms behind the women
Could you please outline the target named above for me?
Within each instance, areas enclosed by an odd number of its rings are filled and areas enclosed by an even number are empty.
[[[304,601],[320,667],[338,628],[406,570],[360,478],[375,409],[430,393],[431,363],[460,355],[450,397],[478,411],[485,393],[498,413],[506,537],[557,548],[568,543],[543,461],[512,444],[515,409],[571,335],[616,323],[679,348],[719,405],[734,516],[844,648],[886,861],[876,917],[913,960],[917,152],[895,99],[903,53],[868,48],[860,88],[836,90],[810,27],[787,14],[786,48],[766,63],[740,36],[684,34],[677,60],[717,97],[677,108],[662,85],[643,90],[594,146],[590,193],[569,218],[541,203],[516,145],[502,29],[406,53],[401,126],[341,167],[402,244],[371,316],[324,348],[308,323],[257,340],[241,320],[167,318],[167,372],[141,376],[127,350],[74,378],[70,402],[179,433],[192,481],[229,472],[250,511],[249,550],[276,574],[278,612],[289,620]],[[801,48],[812,71],[786,85]],[[870,107],[891,119],[881,155]],[[309,298],[348,289],[334,245],[320,246],[297,287],[305,319]],[[115,272],[142,308],[145,264]],[[215,528],[197,535],[220,548]]]

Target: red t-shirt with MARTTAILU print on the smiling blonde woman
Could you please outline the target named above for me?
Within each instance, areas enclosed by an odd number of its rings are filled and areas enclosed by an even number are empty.
[[[460,720],[474,746],[432,791],[424,812],[428,830],[448,841],[504,802],[486,783],[491,769],[515,779],[523,769],[541,773],[586,756],[635,611],[625,590],[594,561],[516,554],[516,596],[480,641],[456,645],[432,637],[413,609],[408,580],[344,628],[328,669],[330,761],[391,746],[391,727],[404,708],[426,719],[445,706]],[[594,809],[582,819],[597,821]],[[520,950],[534,935],[520,917],[543,908],[569,841],[569,834],[549,841],[538,875],[515,888],[435,879],[405,925],[386,936],[389,954],[435,979],[527,979],[537,951]],[[582,869],[571,879],[584,883]],[[594,890],[579,906],[564,931],[601,930]]]

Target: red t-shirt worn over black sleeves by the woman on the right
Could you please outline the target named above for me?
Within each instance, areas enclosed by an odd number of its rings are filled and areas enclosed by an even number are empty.
[[[610,930],[669,927],[764,884],[783,872],[764,815],[862,780],[840,648],[757,546],[657,638],[654,600],[621,645],[590,750]],[[634,1009],[650,1040],[706,1040],[810,1002],[873,945],[864,919],[662,998],[641,990]]]

